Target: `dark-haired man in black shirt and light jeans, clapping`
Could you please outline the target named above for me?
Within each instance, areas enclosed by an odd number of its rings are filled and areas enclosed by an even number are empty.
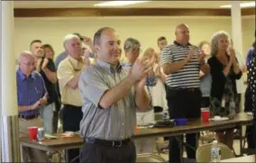
[[[36,71],[41,74],[48,92],[48,104],[40,109],[40,115],[46,133],[53,133],[53,111],[55,110],[56,90],[54,84],[57,82],[56,68],[52,59],[44,58],[41,50],[41,41],[35,40],[31,43],[31,51],[37,58]]]

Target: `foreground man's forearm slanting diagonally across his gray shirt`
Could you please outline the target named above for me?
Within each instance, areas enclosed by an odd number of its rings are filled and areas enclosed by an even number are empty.
[[[99,105],[104,109],[110,108],[120,101],[124,95],[127,95],[134,83],[135,81],[130,76],[125,77],[121,83],[105,92],[100,99]]]

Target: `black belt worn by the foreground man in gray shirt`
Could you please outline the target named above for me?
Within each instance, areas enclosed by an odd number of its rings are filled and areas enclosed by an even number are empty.
[[[129,144],[131,142],[131,139],[128,138],[125,140],[99,140],[96,138],[86,138],[85,141],[90,144],[98,144],[109,147],[122,147]]]

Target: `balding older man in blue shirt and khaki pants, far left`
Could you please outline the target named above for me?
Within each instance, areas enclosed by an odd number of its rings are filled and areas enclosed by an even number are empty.
[[[42,127],[39,108],[47,104],[47,91],[41,75],[34,71],[36,60],[30,51],[19,56],[16,71],[20,136],[28,136],[29,127]],[[23,148],[24,162],[47,162],[46,153],[38,149]]]

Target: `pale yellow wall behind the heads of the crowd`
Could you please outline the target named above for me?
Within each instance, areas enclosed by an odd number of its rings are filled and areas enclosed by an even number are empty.
[[[174,37],[178,23],[187,23],[190,27],[191,43],[209,41],[214,32],[224,30],[231,33],[231,17],[84,17],[84,18],[15,18],[15,54],[29,50],[34,39],[50,43],[56,54],[63,50],[63,37],[72,32],[93,37],[97,29],[103,26],[114,27],[121,41],[134,37],[141,41],[142,49],[157,48],[157,38],[166,36],[169,42]],[[242,18],[243,54],[251,46],[255,30],[255,16]]]

